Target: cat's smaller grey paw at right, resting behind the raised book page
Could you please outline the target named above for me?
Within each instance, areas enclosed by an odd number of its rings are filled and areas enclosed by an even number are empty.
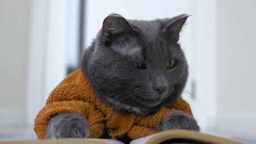
[[[193,131],[200,131],[197,121],[190,115],[181,111],[170,113],[164,119],[163,130],[171,129],[187,129]]]

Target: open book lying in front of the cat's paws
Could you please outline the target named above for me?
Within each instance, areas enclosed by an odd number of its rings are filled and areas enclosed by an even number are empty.
[[[9,141],[0,144],[124,144],[110,139],[59,139],[42,141]],[[241,144],[225,138],[188,130],[170,130],[132,140],[130,144]]]

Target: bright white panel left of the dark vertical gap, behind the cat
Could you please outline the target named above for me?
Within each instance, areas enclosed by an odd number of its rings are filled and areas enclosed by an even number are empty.
[[[79,12],[79,0],[31,0],[31,3],[26,89],[28,125],[33,125],[50,92],[66,77],[68,62],[76,55]]]

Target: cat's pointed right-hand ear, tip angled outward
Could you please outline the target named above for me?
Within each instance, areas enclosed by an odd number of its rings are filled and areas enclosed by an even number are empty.
[[[181,14],[173,18],[162,19],[161,28],[164,31],[172,33],[174,36],[179,36],[179,33],[189,16],[190,15],[188,14]]]

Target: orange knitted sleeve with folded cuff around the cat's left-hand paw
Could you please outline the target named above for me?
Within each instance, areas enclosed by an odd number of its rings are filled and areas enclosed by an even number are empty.
[[[77,112],[84,117],[90,126],[92,138],[99,138],[104,129],[104,115],[94,105],[86,102],[85,92],[75,83],[61,83],[49,95],[45,107],[35,118],[34,131],[38,139],[45,138],[49,119],[63,112]]]

